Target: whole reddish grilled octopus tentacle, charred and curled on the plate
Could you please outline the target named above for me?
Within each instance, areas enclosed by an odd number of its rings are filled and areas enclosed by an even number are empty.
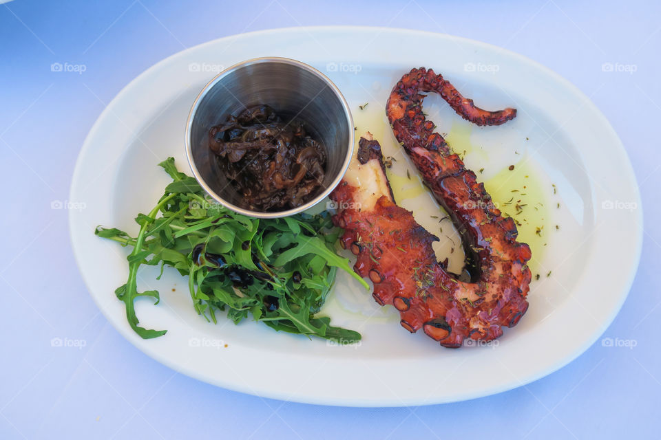
[[[461,347],[467,338],[493,340],[514,327],[527,311],[531,258],[516,241],[516,224],[498,210],[475,173],[465,168],[422,111],[421,92],[434,91],[463,118],[499,125],[515,109],[486,111],[459,94],[432,69],[412,69],[395,85],[386,114],[434,198],[450,214],[469,257],[470,280],[448,272],[432,249],[437,236],[397,206],[381,147],[368,133],[330,198],[338,206],[335,225],[344,228],[344,248],[357,256],[354,270],[370,278],[379,305],[394,306],[401,326],[423,332],[443,347]]]

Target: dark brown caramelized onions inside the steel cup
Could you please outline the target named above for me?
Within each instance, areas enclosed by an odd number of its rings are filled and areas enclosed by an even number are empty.
[[[306,203],[322,188],[326,151],[297,120],[258,105],[209,131],[220,169],[243,195],[243,208],[277,211]]]

